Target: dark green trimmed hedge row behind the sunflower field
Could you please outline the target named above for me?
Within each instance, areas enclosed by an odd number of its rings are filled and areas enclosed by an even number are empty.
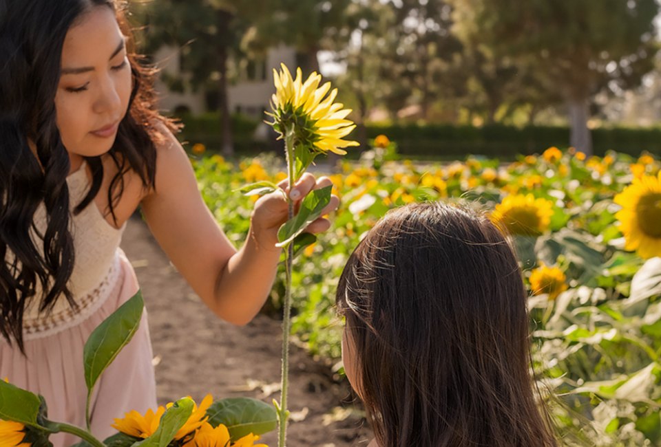
[[[185,129],[182,138],[191,144],[202,143],[209,149],[220,149],[222,135],[216,113],[182,117]],[[277,150],[275,142],[255,141],[253,134],[259,122],[244,116],[233,116],[233,138],[238,153],[250,154]],[[453,124],[393,124],[366,128],[368,138],[383,133],[397,142],[399,153],[406,157],[448,158],[467,154],[488,157],[515,157],[519,154],[540,153],[549,146],[569,145],[568,127],[528,126],[512,127],[491,124],[473,127]],[[659,128],[600,128],[592,131],[594,153],[603,155],[614,150],[631,155],[649,151],[661,155],[661,127]],[[355,155],[355,151],[352,151]]]

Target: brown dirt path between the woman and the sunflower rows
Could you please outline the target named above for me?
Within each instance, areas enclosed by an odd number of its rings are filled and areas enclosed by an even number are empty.
[[[218,320],[136,217],[127,223],[122,248],[147,303],[159,404],[184,395],[200,402],[206,393],[280,398],[280,322],[259,315],[246,327],[234,327]],[[348,387],[333,381],[328,367],[292,347],[290,380],[289,406],[297,420],[288,430],[288,446],[368,444],[369,430],[346,408]],[[277,445],[275,433],[262,441]]]

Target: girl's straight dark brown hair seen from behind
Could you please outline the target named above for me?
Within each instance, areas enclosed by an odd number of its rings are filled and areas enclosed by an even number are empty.
[[[348,259],[337,305],[381,447],[555,444],[521,272],[486,217],[439,202],[388,212]]]

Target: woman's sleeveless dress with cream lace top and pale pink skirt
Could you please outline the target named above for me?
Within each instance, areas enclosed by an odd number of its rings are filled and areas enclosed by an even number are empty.
[[[67,177],[72,208],[90,188],[85,164]],[[45,228],[43,208],[36,226]],[[79,308],[74,312],[60,299],[51,314],[39,314],[34,303],[25,309],[25,356],[0,339],[0,378],[43,395],[48,418],[85,427],[87,389],[83,375],[83,346],[96,326],[138,290],[132,265],[119,248],[124,228],[109,225],[94,202],[72,217],[76,253],[70,289]],[[147,314],[133,340],[101,375],[92,398],[92,433],[98,439],[116,433],[110,425],[131,410],[156,408]],[[80,439],[51,437],[54,447],[68,447]]]

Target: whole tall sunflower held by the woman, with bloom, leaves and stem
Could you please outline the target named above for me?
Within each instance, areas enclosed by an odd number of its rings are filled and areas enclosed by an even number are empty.
[[[303,80],[301,69],[296,77],[281,64],[278,72],[273,70],[275,94],[271,98],[272,113],[267,113],[273,121],[267,122],[284,140],[287,162],[287,182],[293,188],[301,175],[313,164],[317,155],[328,152],[346,154],[342,148],[358,146],[358,143],[343,140],[355,128],[346,116],[350,109],[335,102],[337,89],[330,89],[330,83],[321,85],[322,76],[313,73]],[[275,184],[259,182],[242,188],[246,195],[262,195],[278,190]],[[280,402],[274,402],[279,422],[278,446],[286,445],[287,387],[289,369],[289,332],[291,331],[291,272],[295,255],[316,240],[304,232],[309,223],[322,215],[330,203],[331,186],[311,191],[301,201],[295,212],[294,202],[286,197],[289,204],[288,221],[278,231],[277,246],[284,249],[285,287],[282,324],[282,393]]]

